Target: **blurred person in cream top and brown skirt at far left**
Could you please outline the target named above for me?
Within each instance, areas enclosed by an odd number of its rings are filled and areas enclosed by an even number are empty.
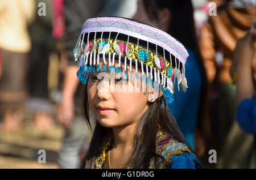
[[[27,27],[35,17],[35,8],[34,0],[0,1],[2,130],[13,131],[22,126],[24,100],[28,93],[28,52],[31,50]]]

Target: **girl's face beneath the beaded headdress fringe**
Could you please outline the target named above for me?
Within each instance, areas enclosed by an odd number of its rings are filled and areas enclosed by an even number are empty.
[[[103,63],[101,62],[100,67],[102,65]],[[118,68],[118,63],[115,63],[115,67]],[[121,72],[123,71],[124,66],[122,65]],[[132,69],[132,78],[130,77],[130,67],[128,65],[126,71],[128,74],[127,85],[125,85],[125,81],[123,84],[121,83],[120,74],[118,76],[117,72],[113,73],[115,77],[111,77],[109,73],[106,73],[106,70],[101,73],[90,72],[89,74],[87,86],[89,106],[97,121],[104,127],[120,127],[136,123],[149,107],[147,88],[142,90],[141,78],[139,80],[135,78],[135,68]],[[141,75],[141,72],[138,72],[138,74]],[[101,79],[98,75],[105,75],[105,79],[109,77],[110,80]],[[131,84],[131,79],[133,84]],[[145,83],[143,82],[143,84]]]

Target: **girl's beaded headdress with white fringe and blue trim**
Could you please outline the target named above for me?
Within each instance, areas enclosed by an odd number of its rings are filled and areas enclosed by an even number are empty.
[[[100,17],[86,20],[73,54],[80,67],[77,76],[83,84],[88,81],[88,72],[100,71],[100,68],[108,72],[122,71],[127,76],[129,65],[135,67],[136,79],[141,78],[142,82],[161,89],[168,104],[174,100],[175,79],[178,90],[180,84],[184,92],[188,88],[185,78],[188,52],[184,46],[166,32],[132,19]],[[101,55],[102,67],[99,66]],[[118,68],[114,67],[115,59]],[[121,61],[125,65],[123,70]],[[138,68],[142,71],[141,77]]]

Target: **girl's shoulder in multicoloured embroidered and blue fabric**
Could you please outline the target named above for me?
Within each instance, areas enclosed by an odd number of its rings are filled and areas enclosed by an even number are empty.
[[[197,160],[187,145],[177,142],[177,140],[166,132],[158,131],[155,145],[156,155],[159,155],[159,157],[156,157],[156,163],[152,163],[151,168],[202,168],[199,160]]]

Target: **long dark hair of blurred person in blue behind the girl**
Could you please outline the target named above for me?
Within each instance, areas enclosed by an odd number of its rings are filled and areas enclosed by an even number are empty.
[[[171,11],[171,20],[167,33],[179,40],[186,48],[191,49],[196,54],[196,61],[199,65],[201,74],[201,97],[199,110],[197,112],[198,121],[195,131],[195,149],[203,158],[203,156],[206,156],[206,148],[209,148],[210,142],[212,142],[212,137],[208,117],[208,81],[199,45],[197,44],[192,2],[191,0],[143,0],[143,5],[149,18],[156,20],[157,22],[159,22],[157,19],[158,10],[168,8],[168,10]],[[202,151],[202,149],[204,151]]]

